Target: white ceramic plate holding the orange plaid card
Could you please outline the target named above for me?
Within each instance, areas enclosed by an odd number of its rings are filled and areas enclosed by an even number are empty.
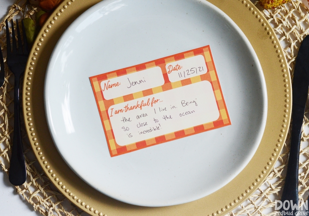
[[[210,45],[231,125],[111,157],[89,77]],[[204,197],[249,162],[264,132],[266,85],[248,39],[197,0],[104,0],[59,39],[45,79],[54,143],[84,181],[117,200],[170,206]]]

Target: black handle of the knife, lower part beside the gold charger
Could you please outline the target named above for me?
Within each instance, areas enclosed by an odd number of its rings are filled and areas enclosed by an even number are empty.
[[[299,163],[299,149],[300,140],[302,136],[303,118],[305,107],[293,104],[293,123],[292,123],[292,137],[289,154],[289,162],[286,171],[286,180],[281,197],[282,203],[293,201],[298,203],[298,163]]]

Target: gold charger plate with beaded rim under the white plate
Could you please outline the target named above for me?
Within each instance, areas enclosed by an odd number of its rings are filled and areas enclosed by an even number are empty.
[[[271,26],[250,1],[208,0],[247,36],[264,72],[267,122],[261,143],[249,164],[227,185],[197,201],[155,208],[133,206],[98,192],[69,168],[53,143],[45,117],[44,79],[53,48],[70,23],[97,2],[100,0],[62,2],[42,27],[30,52],[23,82],[23,116],[33,151],[44,172],[67,199],[91,215],[227,214],[254,193],[268,176],[290,125],[291,79],[283,50]]]

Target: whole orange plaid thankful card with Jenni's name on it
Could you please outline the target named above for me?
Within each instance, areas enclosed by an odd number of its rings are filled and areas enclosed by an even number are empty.
[[[112,157],[231,125],[210,46],[90,81]]]

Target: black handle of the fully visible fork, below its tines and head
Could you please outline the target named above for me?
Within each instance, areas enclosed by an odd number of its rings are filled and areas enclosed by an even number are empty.
[[[10,162],[9,180],[13,185],[19,186],[26,181],[27,172],[23,154],[23,142],[20,130],[19,113],[19,76],[15,76],[14,84],[14,134]]]

